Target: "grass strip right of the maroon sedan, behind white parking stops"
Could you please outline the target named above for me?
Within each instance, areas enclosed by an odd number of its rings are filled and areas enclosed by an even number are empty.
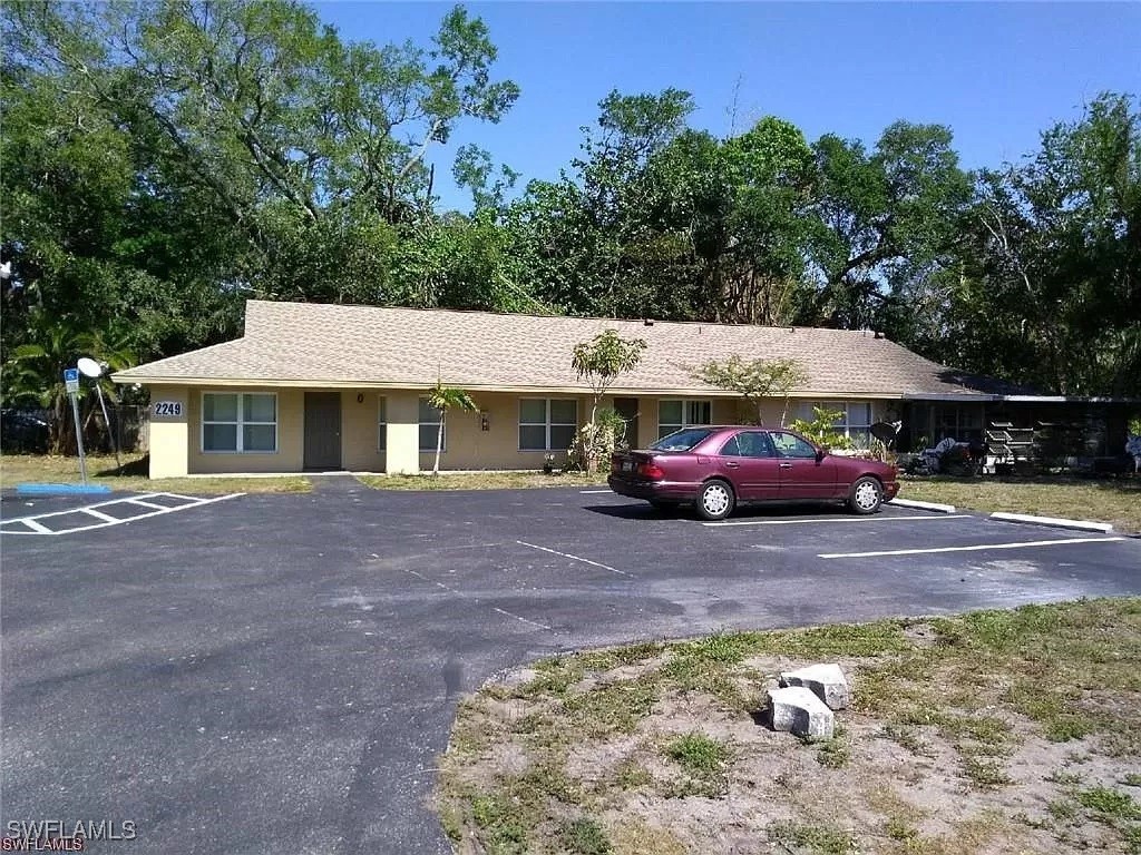
[[[901,475],[899,497],[976,511],[1006,511],[1112,523],[1141,531],[1141,479],[946,478]]]

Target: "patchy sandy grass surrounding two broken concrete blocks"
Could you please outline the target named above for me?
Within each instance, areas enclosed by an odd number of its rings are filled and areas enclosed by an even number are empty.
[[[763,722],[839,662],[827,741]],[[459,708],[460,853],[1141,854],[1141,598],[737,633],[547,659]]]

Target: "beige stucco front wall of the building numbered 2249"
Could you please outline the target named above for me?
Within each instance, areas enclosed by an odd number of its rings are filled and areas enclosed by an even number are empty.
[[[202,393],[274,392],[277,394],[277,453],[234,454],[202,451]],[[151,477],[170,478],[194,473],[300,472],[305,454],[304,389],[153,386],[153,401],[181,401],[181,418],[152,417],[149,427]],[[419,398],[423,392],[346,389],[341,391],[341,465],[357,472],[412,473],[432,466],[432,451],[419,450]],[[357,400],[357,398],[362,400]],[[386,400],[387,450],[380,450],[380,399]],[[578,423],[590,415],[590,396],[519,396],[487,393],[474,396],[480,413],[453,412],[447,421],[447,443],[440,456],[442,470],[534,469],[543,466],[547,451],[519,450],[520,397],[572,398],[578,404]],[[633,397],[620,394],[618,397]],[[675,399],[641,396],[636,446],[645,448],[657,439],[658,402]],[[696,397],[694,399],[702,399]],[[705,398],[712,401],[714,424],[735,424],[742,410],[736,398]],[[843,399],[837,399],[843,400]],[[847,399],[859,400],[859,399]],[[873,401],[875,420],[890,415],[892,401]],[[601,407],[612,407],[605,398]],[[764,424],[780,424],[783,401],[764,404]],[[788,418],[795,417],[796,399],[790,402]],[[482,429],[486,421],[487,430]],[[556,465],[565,454],[555,453]]]

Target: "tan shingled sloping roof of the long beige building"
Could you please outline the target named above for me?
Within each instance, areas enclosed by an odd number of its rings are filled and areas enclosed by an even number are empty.
[[[235,341],[119,372],[119,383],[469,390],[586,390],[575,344],[613,328],[639,337],[641,363],[617,393],[728,394],[690,377],[709,359],[792,358],[809,381],[795,397],[978,396],[1025,391],[932,363],[871,331],[614,320],[482,311],[250,300]]]

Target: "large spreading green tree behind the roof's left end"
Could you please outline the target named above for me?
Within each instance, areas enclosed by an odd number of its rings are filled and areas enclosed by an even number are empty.
[[[462,7],[426,47],[347,42],[293,0],[0,16],[3,258],[48,309],[130,317],[144,356],[232,334],[251,295],[399,302],[397,247],[435,220],[428,155],[518,97]],[[8,348],[25,308],[3,308]]]

